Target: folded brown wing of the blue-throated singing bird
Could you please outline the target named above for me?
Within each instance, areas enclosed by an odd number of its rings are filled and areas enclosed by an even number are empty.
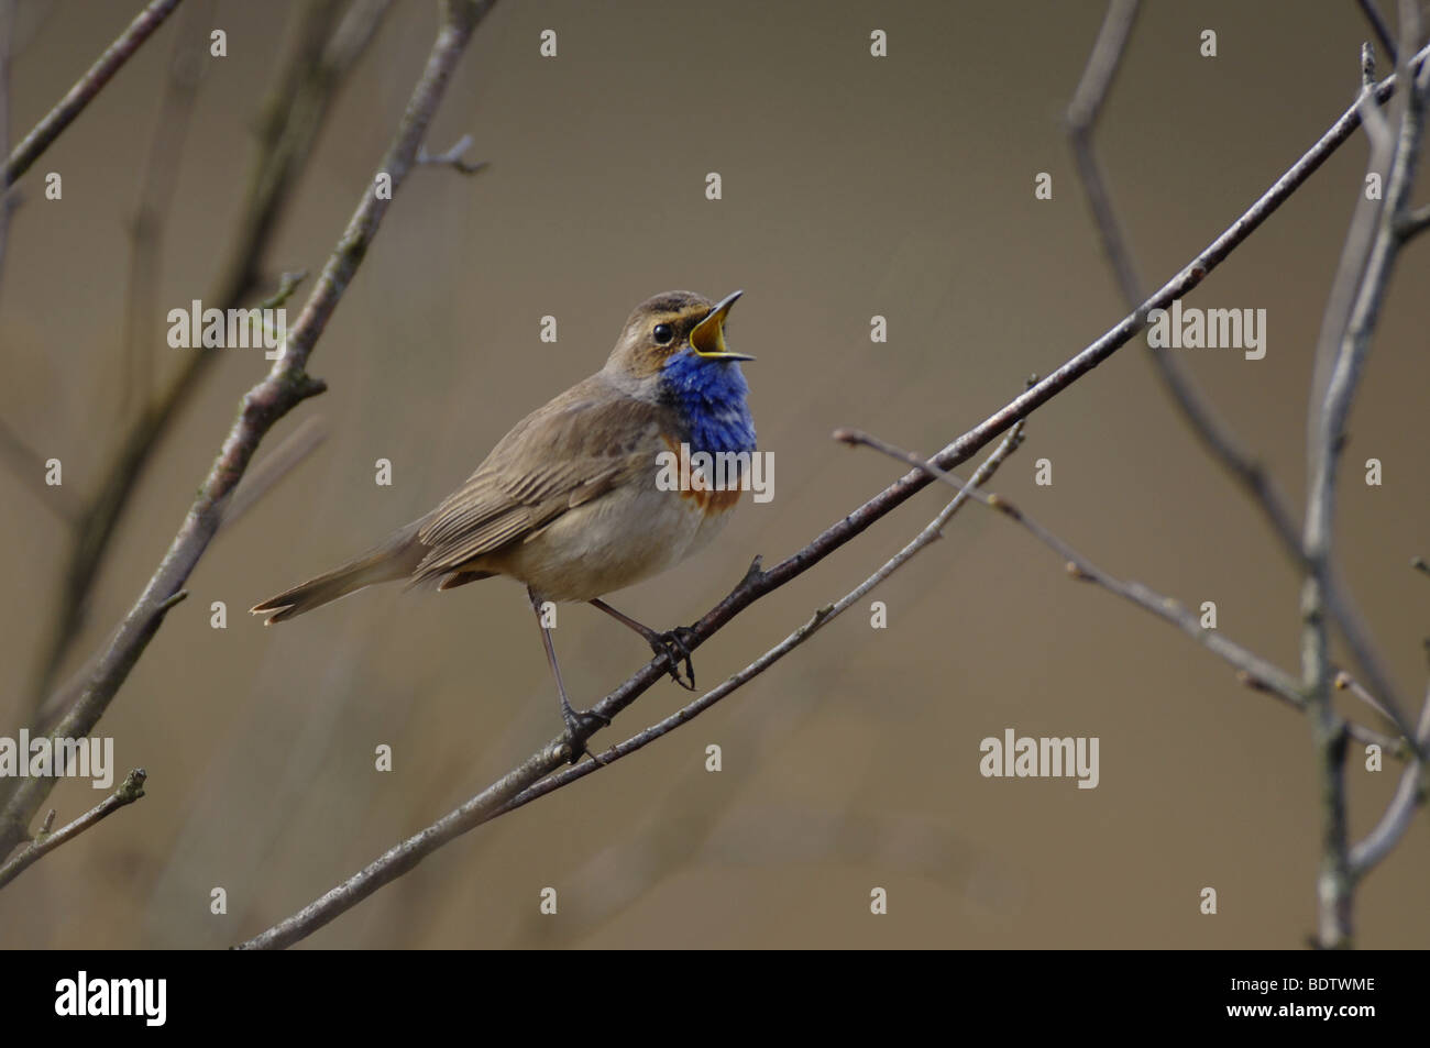
[[[595,375],[528,415],[425,520],[415,580],[532,538],[568,509],[655,469],[669,407],[611,390]]]

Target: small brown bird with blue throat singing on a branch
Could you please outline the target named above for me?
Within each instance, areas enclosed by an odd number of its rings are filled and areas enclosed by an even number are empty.
[[[376,582],[452,589],[506,575],[525,583],[536,610],[572,736],[605,721],[566,696],[541,613],[546,600],[595,605],[664,652],[678,683],[684,658],[694,688],[686,631],[656,632],[601,598],[701,549],[739,500],[738,486],[656,482],[662,453],[679,455],[682,445],[691,456],[755,450],[739,369],[754,357],[725,346],[725,317],[739,296],[666,292],[641,303],[605,367],[518,422],[436,509],[252,610],[273,625]]]

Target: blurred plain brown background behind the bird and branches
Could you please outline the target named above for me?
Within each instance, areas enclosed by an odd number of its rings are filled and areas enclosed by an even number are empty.
[[[190,0],[197,4],[200,0]],[[186,4],[187,7],[189,4]],[[137,3],[21,1],[13,137]],[[229,56],[204,60],[176,173],[162,309],[212,287],[232,242],[259,102],[296,4],[219,0]],[[1047,373],[1123,309],[1061,130],[1103,4],[503,3],[438,113],[489,172],[416,172],[312,362],[326,443],[226,530],[100,731],[143,765],[146,798],[0,892],[4,946],[225,946],[287,916],[485,786],[559,726],[523,593],[382,588],[282,629],[245,609],[433,505],[526,410],[603,362],[639,300],[745,289],[746,366],[775,500],[615,603],[691,622],[749,558],[785,556],[899,469],[834,445],[854,425],[932,450]],[[0,285],[0,413],[86,495],[124,432],[129,240],[184,10],[21,183]],[[316,273],[406,103],[436,6],[399,0],[340,93],[267,252]],[[555,29],[559,57],[538,54]],[[869,57],[872,29],[889,56]],[[1218,56],[1198,54],[1214,29]],[[1098,142],[1148,283],[1224,229],[1341,113],[1369,34],[1351,3],[1144,10]],[[1343,147],[1188,305],[1264,307],[1268,353],[1183,360],[1300,512],[1310,359],[1366,146]],[[61,202],[43,176],[64,177]],[[724,200],[704,197],[721,172]],[[1032,194],[1037,172],[1054,199]],[[1424,200],[1424,187],[1417,197]],[[1401,257],[1351,419],[1338,550],[1404,693],[1424,685],[1430,586],[1426,280]],[[306,295],[302,289],[299,300]],[[299,300],[290,306],[296,317]],[[871,345],[885,315],[889,342]],[[538,337],[555,315],[561,340]],[[152,332],[167,373],[193,350]],[[100,576],[73,671],[130,606],[190,503],[237,397],[266,363],[223,360],[146,472]],[[1054,485],[1032,485],[1048,456]],[[1384,486],[1360,463],[1384,462]],[[373,463],[393,463],[390,488]],[[1298,579],[1195,446],[1138,345],[1037,412],[994,485],[1095,563],[1184,603],[1297,669]],[[0,732],[14,733],[66,556],[57,519],[0,472],[9,599]],[[842,595],[942,505],[925,492],[758,603],[696,658],[702,685]],[[948,540],[822,636],[659,745],[442,849],[313,946],[1298,946],[1314,922],[1317,779],[1308,725],[1110,595],[1070,583],[1008,523],[962,513]],[[213,600],[229,626],[209,625]],[[588,608],[556,632],[593,701],[648,652]],[[665,682],[598,743],[686,701]],[[978,742],[1101,738],[1101,785],[978,773]],[[704,771],[709,743],[725,769]],[[373,748],[395,771],[373,771]],[[1351,759],[1357,838],[1399,765]],[[60,821],[87,782],[51,796]],[[1364,946],[1430,944],[1424,816],[1358,894]],[[222,885],[229,914],[209,912]],[[538,915],[556,886],[561,912]],[[869,915],[872,886],[889,892]],[[1220,914],[1198,914],[1218,891]]]

